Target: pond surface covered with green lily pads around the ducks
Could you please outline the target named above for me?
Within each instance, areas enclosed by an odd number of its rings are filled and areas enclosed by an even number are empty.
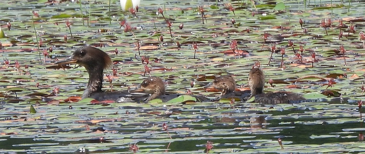
[[[364,153],[364,121],[357,103],[365,90],[364,39],[359,34],[364,31],[364,1],[254,3],[143,0],[132,15],[123,12],[116,0],[111,1],[110,11],[109,1],[101,0],[81,0],[81,10],[75,1],[1,1],[5,38],[0,39],[0,153],[133,153],[130,147],[136,144],[136,153],[190,154],[205,153],[207,141],[213,146],[208,153]],[[198,6],[205,9],[204,24]],[[164,17],[156,14],[158,8],[172,23],[171,34]],[[124,32],[123,19],[136,29]],[[268,33],[265,40],[264,33]],[[233,40],[241,57],[231,51]],[[193,42],[198,47],[196,59]],[[321,101],[275,106],[230,104],[224,99],[70,102],[78,98],[72,96],[82,95],[87,72],[77,65],[60,69],[54,62],[84,44],[113,59],[114,90],[138,87],[146,78],[141,56],[149,56],[151,75],[165,79],[168,91],[191,90],[215,98],[219,92],[203,88],[212,76],[234,74],[237,88],[245,90],[248,72],[259,60],[266,81],[273,79],[273,85],[265,84],[265,91],[298,92]],[[104,73],[113,74],[111,69]],[[329,86],[331,78],[335,84]],[[110,90],[104,79],[104,90]],[[34,112],[31,105],[37,113],[30,113]]]

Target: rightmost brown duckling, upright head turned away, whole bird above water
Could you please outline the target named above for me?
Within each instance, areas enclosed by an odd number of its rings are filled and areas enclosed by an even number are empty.
[[[281,103],[300,103],[306,100],[300,94],[294,92],[268,92],[264,93],[265,75],[259,67],[253,67],[249,72],[249,86],[251,96],[255,96],[255,103],[281,104]]]

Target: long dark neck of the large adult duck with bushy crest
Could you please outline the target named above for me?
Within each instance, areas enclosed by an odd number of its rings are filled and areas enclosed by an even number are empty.
[[[95,65],[87,67],[86,70],[89,74],[89,82],[82,98],[88,98],[93,92],[101,92],[103,87],[103,68]]]

